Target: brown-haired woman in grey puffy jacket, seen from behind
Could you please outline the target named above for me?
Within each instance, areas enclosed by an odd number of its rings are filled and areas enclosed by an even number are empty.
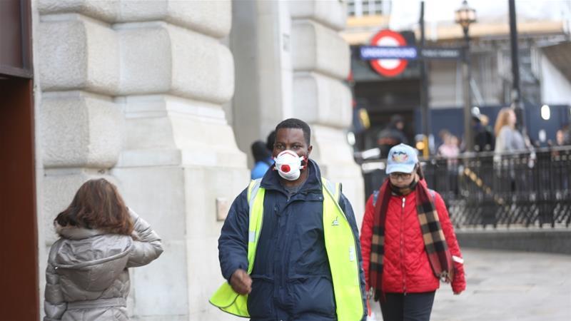
[[[54,225],[44,321],[128,320],[127,269],[158,258],[161,238],[103,178],[81,185]]]

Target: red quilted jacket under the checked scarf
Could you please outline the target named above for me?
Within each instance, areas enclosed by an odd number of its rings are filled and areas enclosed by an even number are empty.
[[[419,184],[426,185],[424,180]],[[361,228],[361,248],[363,250],[363,267],[369,288],[370,249],[373,240],[375,202],[378,191],[370,195],[365,205],[365,215]],[[434,193],[434,205],[446,238],[450,253],[462,258],[458,240],[454,233],[448,210],[443,198]],[[458,259],[456,259],[458,260]],[[454,262],[455,275],[452,282],[453,292],[462,292],[466,287],[464,266]],[[408,195],[390,197],[385,221],[385,255],[383,258],[383,292],[418,293],[432,292],[440,287],[440,280],[435,277],[428,255],[426,254],[423,233],[420,230],[416,211],[416,191]]]

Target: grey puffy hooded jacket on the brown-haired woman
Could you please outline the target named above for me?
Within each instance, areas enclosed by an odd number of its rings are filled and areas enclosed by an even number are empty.
[[[129,209],[133,235],[56,225],[46,268],[44,321],[128,320],[128,267],[147,265],[163,252],[161,238]]]

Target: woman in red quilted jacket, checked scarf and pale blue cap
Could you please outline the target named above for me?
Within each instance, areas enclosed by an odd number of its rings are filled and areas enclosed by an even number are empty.
[[[368,293],[383,320],[430,320],[440,280],[465,290],[463,259],[444,200],[429,190],[416,151],[391,148],[380,190],[367,201],[360,243]],[[439,280],[440,279],[440,280]]]

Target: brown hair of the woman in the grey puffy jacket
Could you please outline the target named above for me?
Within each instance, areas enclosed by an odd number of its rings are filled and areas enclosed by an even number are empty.
[[[117,188],[105,178],[88,180],[54,223],[130,235],[133,222]]]

